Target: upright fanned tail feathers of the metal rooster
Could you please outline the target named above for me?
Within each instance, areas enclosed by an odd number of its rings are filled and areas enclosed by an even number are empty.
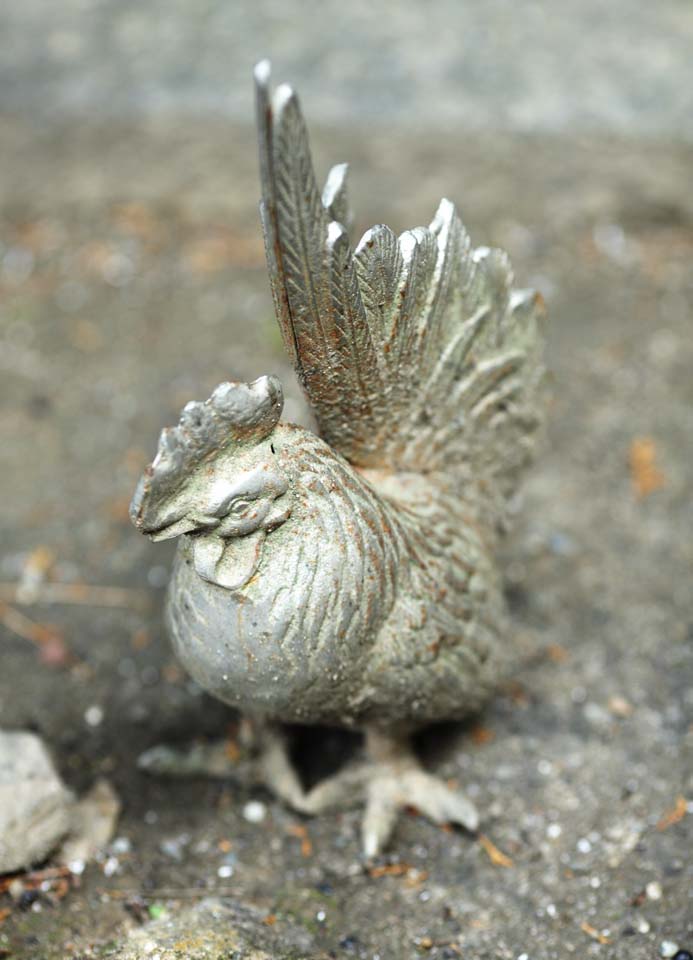
[[[256,71],[263,227],[277,316],[321,436],[361,467],[467,462],[512,487],[538,423],[539,299],[500,250],[473,250],[453,204],[353,251],[346,168],[322,198],[298,100]]]

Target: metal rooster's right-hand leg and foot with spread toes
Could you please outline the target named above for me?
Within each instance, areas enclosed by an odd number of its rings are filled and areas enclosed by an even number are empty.
[[[383,849],[404,807],[416,807],[434,823],[477,829],[479,815],[471,801],[423,770],[406,739],[371,728],[366,731],[366,749],[372,761],[362,823],[367,857]]]

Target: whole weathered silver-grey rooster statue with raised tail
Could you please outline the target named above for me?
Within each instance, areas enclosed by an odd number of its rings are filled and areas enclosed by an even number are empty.
[[[443,200],[429,227],[352,246],[346,165],[320,193],[295,93],[255,71],[261,215],[277,320],[318,433],[281,421],[272,376],[222,383],[163,431],[132,502],[180,537],[166,620],[195,680],[257,732],[294,809],[362,801],[366,854],[398,811],[477,827],[409,746],[463,717],[511,662],[494,551],[540,421],[541,301],[473,249]],[[366,760],[304,790],[282,723],[364,731]]]

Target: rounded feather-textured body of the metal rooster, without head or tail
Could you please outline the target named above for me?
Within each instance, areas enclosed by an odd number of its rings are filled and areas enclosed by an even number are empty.
[[[241,710],[300,723],[413,726],[478,707],[503,631],[470,505],[444,478],[366,477],[299,427],[271,438],[291,515],[242,590],[201,579],[199,537],[181,541],[168,622],[192,676]]]

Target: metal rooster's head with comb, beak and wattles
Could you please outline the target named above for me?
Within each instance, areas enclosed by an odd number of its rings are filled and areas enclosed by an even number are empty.
[[[283,407],[276,377],[222,383],[162,431],[130,505],[151,540],[192,539],[197,573],[227,589],[255,573],[266,535],[291,514],[290,482],[272,433]]]

